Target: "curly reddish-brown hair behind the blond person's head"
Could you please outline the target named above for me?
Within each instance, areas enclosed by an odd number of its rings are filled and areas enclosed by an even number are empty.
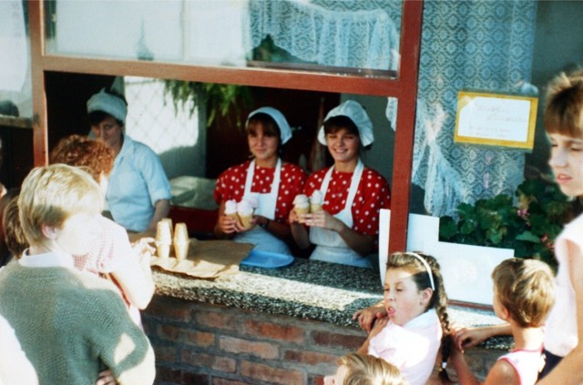
[[[90,137],[71,135],[62,138],[53,151],[51,163],[64,163],[85,170],[99,182],[101,174],[109,175],[113,169],[115,155],[105,143]]]

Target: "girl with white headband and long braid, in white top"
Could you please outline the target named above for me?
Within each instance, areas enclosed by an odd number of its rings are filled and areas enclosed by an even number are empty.
[[[358,352],[392,363],[411,385],[424,385],[435,368],[442,336],[443,345],[449,346],[446,306],[435,258],[412,252],[392,254],[384,279],[386,317],[377,319]]]

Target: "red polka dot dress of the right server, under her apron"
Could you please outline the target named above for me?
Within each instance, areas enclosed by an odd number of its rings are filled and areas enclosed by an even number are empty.
[[[304,194],[312,196],[315,189],[320,189],[322,180],[329,168],[323,168],[308,177]],[[352,172],[332,171],[328,190],[324,197],[323,209],[334,215],[342,211],[348,198],[348,189],[352,181]],[[360,234],[377,236],[379,233],[379,211],[391,208],[391,188],[382,175],[372,168],[364,167],[363,176],[358,185],[353,207],[353,230]]]

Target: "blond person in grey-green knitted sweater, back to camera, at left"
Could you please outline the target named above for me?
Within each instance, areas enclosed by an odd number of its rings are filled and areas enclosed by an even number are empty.
[[[74,268],[102,208],[97,183],[76,167],[36,167],[23,182],[18,210],[30,247],[0,270],[0,309],[39,383],[92,384],[101,365],[118,383],[154,382],[154,352],[117,289]]]

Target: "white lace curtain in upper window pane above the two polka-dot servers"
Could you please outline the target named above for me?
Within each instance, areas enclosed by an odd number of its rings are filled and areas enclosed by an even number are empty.
[[[271,36],[303,61],[322,66],[396,69],[401,2],[251,0],[251,44]]]

